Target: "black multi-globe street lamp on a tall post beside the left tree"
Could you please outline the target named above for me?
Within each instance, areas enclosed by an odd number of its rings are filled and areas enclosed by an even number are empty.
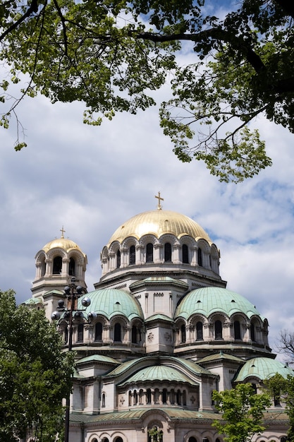
[[[73,318],[80,316],[80,310],[78,309],[78,299],[82,296],[84,291],[80,285],[75,285],[75,277],[71,278],[71,285],[64,287],[64,294],[66,295],[67,308],[64,305],[63,299],[58,302],[57,311],[51,314],[53,321],[60,319],[60,312],[63,311],[63,318],[68,322],[68,351],[73,349]],[[82,299],[82,305],[84,307],[90,306],[91,300],[88,297]],[[65,417],[65,435],[64,442],[69,442],[69,416],[71,407],[71,393],[66,396],[66,417]]]

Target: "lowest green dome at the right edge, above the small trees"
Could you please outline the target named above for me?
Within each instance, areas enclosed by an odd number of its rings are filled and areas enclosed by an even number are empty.
[[[269,357],[254,357],[247,361],[235,376],[235,382],[244,382],[247,378],[255,377],[261,381],[271,378],[276,373],[281,374],[283,378],[288,375],[294,376],[294,371],[286,364],[270,359]]]

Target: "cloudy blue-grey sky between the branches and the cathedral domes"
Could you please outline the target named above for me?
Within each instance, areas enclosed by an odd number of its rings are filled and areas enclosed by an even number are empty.
[[[161,100],[164,92],[158,93]],[[269,319],[270,342],[294,331],[294,135],[259,118],[273,166],[243,184],[221,184],[200,162],[180,163],[159,128],[158,109],[82,124],[82,104],[27,98],[18,108],[27,148],[0,130],[0,288],[30,297],[35,254],[64,226],[87,253],[88,290],[101,276],[99,253],[114,230],[157,207],[183,213],[221,250],[228,289]]]

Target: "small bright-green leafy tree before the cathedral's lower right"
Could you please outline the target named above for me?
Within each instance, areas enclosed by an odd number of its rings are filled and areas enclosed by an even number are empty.
[[[263,412],[271,405],[267,393],[257,395],[250,383],[241,383],[232,390],[214,391],[213,399],[224,421],[214,421],[213,426],[225,435],[225,441],[250,441],[254,434],[264,431]]]

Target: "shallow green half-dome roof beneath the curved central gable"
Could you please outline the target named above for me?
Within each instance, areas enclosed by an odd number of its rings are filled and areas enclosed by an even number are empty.
[[[125,382],[120,385],[123,386],[128,383],[147,381],[171,381],[171,382],[186,382],[192,385],[196,385],[195,382],[180,371],[173,369],[170,366],[155,365],[145,367],[144,369],[137,371],[133,376],[130,376]]]

